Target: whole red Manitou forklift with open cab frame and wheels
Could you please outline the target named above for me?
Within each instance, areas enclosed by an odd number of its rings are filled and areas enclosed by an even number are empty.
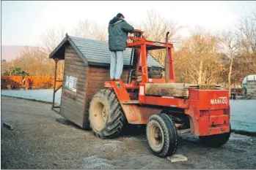
[[[89,121],[95,136],[117,137],[126,123],[147,125],[147,142],[154,155],[164,158],[175,154],[178,134],[200,136],[205,144],[219,147],[230,138],[228,90],[219,85],[175,82],[172,63],[173,45],[148,41],[143,31],[129,36],[134,70],[131,81],[106,81],[105,89],[93,96]],[[166,49],[165,78],[150,78],[147,54]]]

